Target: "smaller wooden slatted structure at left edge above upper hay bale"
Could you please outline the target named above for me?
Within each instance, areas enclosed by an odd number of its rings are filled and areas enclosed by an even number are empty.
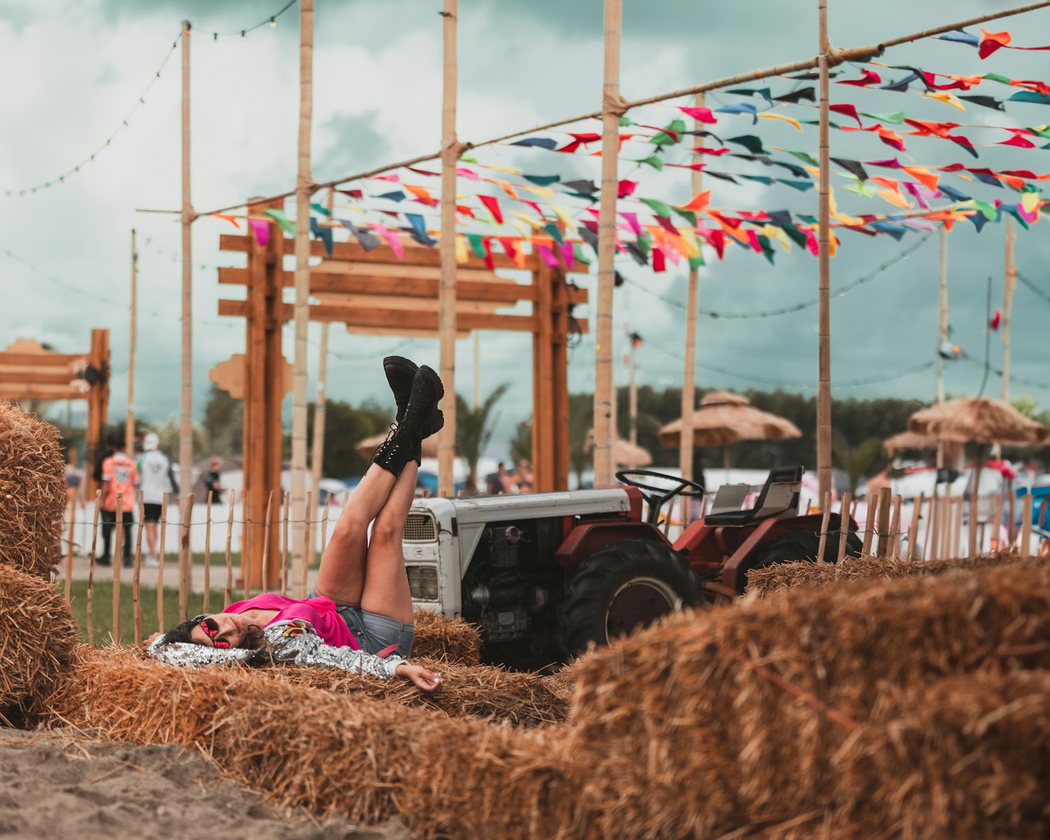
[[[87,400],[84,489],[91,498],[96,490],[91,466],[109,405],[109,331],[91,330],[87,353],[55,353],[34,339],[15,339],[0,352],[0,399]]]

